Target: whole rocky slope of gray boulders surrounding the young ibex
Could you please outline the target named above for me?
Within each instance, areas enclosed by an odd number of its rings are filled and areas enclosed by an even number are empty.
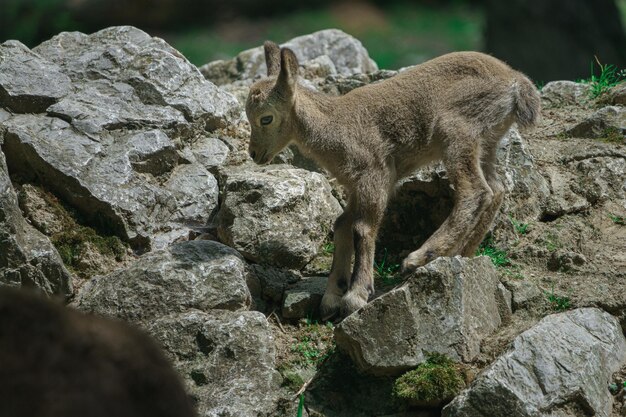
[[[396,74],[337,30],[288,44],[306,88]],[[132,27],[0,45],[0,282],[145,328],[203,416],[293,416],[300,391],[309,416],[623,415],[624,84],[549,83],[540,125],[507,134],[491,259],[396,275],[451,207],[441,166],[403,180],[380,297],[333,336],[315,319],[342,191],[297,149],[249,160],[262,72],[260,48],[199,70]],[[433,352],[466,390],[443,410],[394,398]]]

